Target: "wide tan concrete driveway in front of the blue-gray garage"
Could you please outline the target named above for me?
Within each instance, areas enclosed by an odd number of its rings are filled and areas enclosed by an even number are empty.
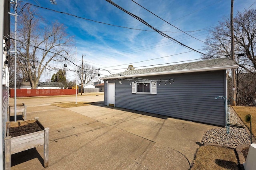
[[[27,108],[28,119],[39,117],[50,128],[49,166],[42,166],[40,146],[13,154],[14,170],[187,170],[204,131],[214,128],[102,103],[68,109],[33,106]]]

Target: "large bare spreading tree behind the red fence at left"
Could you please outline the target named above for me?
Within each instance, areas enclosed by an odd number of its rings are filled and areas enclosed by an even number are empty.
[[[17,64],[22,66],[23,79],[30,82],[32,89],[36,88],[42,73],[50,68],[49,63],[63,61],[62,56],[67,57],[72,46],[72,37],[66,34],[63,25],[55,21],[42,27],[41,20],[29,5],[18,17]]]

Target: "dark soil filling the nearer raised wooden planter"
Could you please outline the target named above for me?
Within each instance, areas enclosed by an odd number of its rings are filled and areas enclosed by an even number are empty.
[[[26,135],[26,134],[34,133],[38,131],[42,131],[42,129],[36,122],[28,123],[28,125],[10,127],[9,136],[16,137],[16,136]]]

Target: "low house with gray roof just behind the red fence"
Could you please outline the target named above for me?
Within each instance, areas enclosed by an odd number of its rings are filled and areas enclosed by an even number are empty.
[[[31,89],[30,82],[22,82],[20,89]],[[36,89],[63,89],[63,84],[58,82],[38,82]]]

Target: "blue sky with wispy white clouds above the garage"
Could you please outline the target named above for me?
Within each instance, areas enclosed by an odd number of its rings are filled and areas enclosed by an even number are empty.
[[[202,41],[206,39],[209,29],[218,25],[218,21],[222,20],[224,16],[230,17],[230,0],[134,0],[182,31],[193,31],[187,33],[201,40],[199,41],[184,33],[177,32],[178,29],[150,14],[131,0],[112,1],[160,31],[173,31],[166,34],[198,51],[202,51],[200,50],[203,45]],[[40,4],[41,7],[90,20],[152,30],[105,0],[56,0],[57,5],[51,4],[49,0],[26,0],[24,2]],[[255,0],[235,0],[234,17],[238,10],[243,11],[254,2]],[[256,8],[256,4],[250,8]],[[124,68],[127,68],[130,63],[134,63],[132,64],[134,67],[140,67],[200,59],[199,53],[173,43],[157,32],[114,27],[41,8],[37,8],[37,10],[44,18],[42,24],[48,25],[52,21],[58,20],[66,26],[67,33],[74,36],[78,65],[81,64],[82,55],[86,55],[84,57],[85,62],[96,68],[104,68],[112,73],[117,73],[124,71]],[[183,54],[176,55],[179,53]],[[163,58],[156,59],[159,57]],[[150,61],[135,63],[144,60]],[[75,69],[72,64],[69,64],[68,67]],[[100,74],[103,76],[110,73],[100,70]],[[73,72],[68,72],[68,79],[74,79],[73,75]],[[44,79],[47,79],[47,76]]]

